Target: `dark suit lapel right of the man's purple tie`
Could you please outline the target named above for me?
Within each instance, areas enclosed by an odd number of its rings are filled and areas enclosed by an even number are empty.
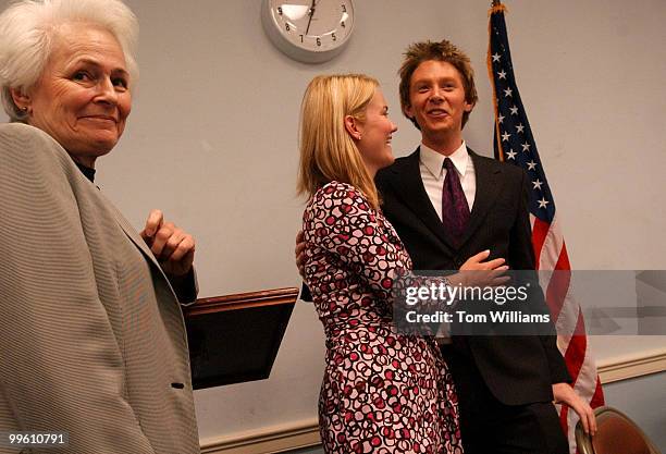
[[[474,176],[477,191],[474,193],[474,205],[469,216],[469,222],[459,245],[464,245],[481,226],[485,214],[494,205],[497,195],[502,192],[502,170],[497,165],[491,165],[486,159],[482,159],[471,149],[467,149],[474,163]]]

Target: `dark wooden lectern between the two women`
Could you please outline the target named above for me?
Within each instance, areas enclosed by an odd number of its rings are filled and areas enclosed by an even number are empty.
[[[296,298],[298,289],[275,289],[184,307],[193,388],[267,379]]]

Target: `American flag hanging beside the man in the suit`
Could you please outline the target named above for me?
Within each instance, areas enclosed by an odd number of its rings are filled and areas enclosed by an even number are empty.
[[[565,357],[575,390],[592,407],[597,407],[604,404],[604,395],[594,358],[588,348],[580,305],[572,295],[571,266],[555,210],[555,200],[514,77],[504,21],[505,11],[506,8],[499,1],[494,1],[489,24],[488,70],[495,107],[495,158],[525,169],[531,181],[530,220],[536,269],[558,270],[550,278],[545,277],[547,273],[540,272],[548,308],[553,320],[556,320],[557,346]],[[571,453],[576,453],[574,429],[578,415],[564,405],[559,415],[569,438]]]

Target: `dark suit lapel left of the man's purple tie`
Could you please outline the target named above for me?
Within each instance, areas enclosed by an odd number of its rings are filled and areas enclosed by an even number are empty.
[[[402,194],[405,205],[415,212],[416,217],[423,222],[428,229],[446,245],[455,248],[454,238],[446,232],[442,220],[437,216],[425,187],[421,179],[420,169],[420,147],[415,152],[409,155],[400,164],[399,169],[395,169],[396,177],[393,179],[397,185],[397,194]]]

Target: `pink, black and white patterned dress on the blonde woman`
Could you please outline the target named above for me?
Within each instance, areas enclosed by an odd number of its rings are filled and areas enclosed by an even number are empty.
[[[349,184],[304,213],[306,282],[326,338],[319,426],[326,453],[462,453],[453,381],[431,338],[392,326],[391,290],[411,260]]]

